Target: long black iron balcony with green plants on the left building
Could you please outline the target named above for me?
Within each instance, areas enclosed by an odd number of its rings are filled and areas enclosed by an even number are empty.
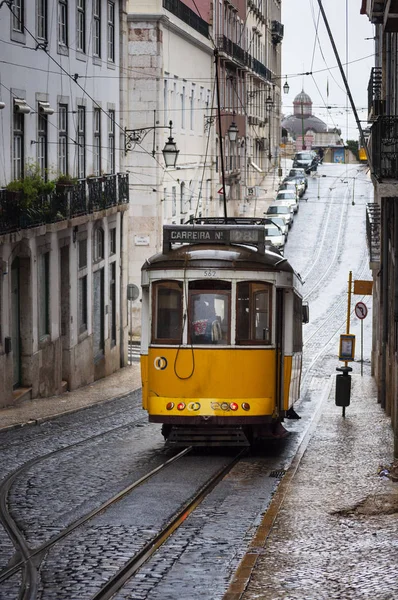
[[[22,192],[0,190],[0,235],[70,220],[129,201],[128,175],[90,177],[57,185],[54,192],[29,201]]]

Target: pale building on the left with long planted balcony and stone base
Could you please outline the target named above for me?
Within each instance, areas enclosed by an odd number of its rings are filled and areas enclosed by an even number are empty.
[[[126,362],[125,22],[122,0],[1,3],[0,406]],[[75,179],[29,195],[32,173]]]

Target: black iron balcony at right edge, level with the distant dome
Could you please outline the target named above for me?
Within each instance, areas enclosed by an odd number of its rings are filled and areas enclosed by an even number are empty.
[[[398,179],[398,117],[378,117],[371,132],[373,175]]]

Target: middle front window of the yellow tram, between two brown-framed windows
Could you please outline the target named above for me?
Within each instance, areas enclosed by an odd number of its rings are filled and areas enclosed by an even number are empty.
[[[192,282],[189,294],[189,336],[193,344],[228,344],[230,322],[229,289],[203,289],[207,282]],[[211,282],[220,286],[221,282]],[[209,285],[210,282],[207,284]],[[200,289],[202,288],[202,289]]]

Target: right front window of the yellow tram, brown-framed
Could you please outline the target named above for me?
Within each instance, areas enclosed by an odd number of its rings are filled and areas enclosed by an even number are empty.
[[[237,344],[271,343],[271,289],[267,283],[237,284]]]

